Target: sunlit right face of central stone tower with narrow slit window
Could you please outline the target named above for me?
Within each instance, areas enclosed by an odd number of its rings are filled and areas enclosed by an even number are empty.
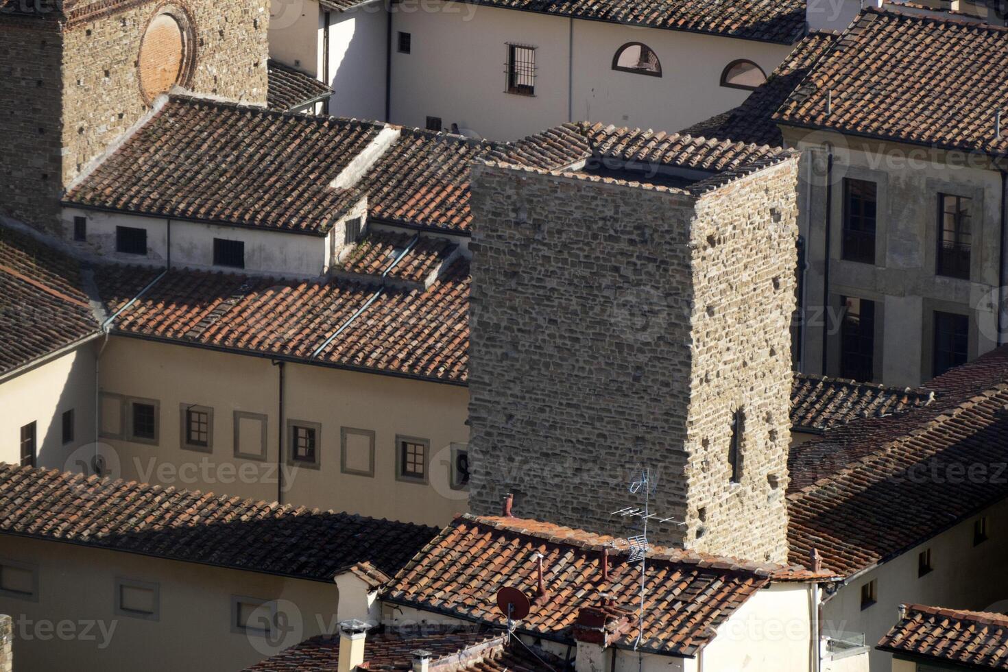
[[[791,159],[697,204],[686,546],[698,550],[787,557],[796,178]],[[728,453],[736,409],[743,413],[742,469],[733,484]]]

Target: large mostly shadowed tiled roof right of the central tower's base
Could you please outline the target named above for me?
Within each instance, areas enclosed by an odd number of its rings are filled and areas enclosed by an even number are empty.
[[[791,449],[791,560],[852,575],[1008,497],[1008,347],[927,383],[935,400]]]

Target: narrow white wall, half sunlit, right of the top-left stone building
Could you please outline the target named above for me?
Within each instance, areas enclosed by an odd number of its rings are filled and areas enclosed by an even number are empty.
[[[320,21],[325,21],[325,15]],[[327,84],[333,88],[331,115],[384,119],[387,22],[388,13],[380,2],[330,13]],[[320,27],[320,40],[322,32]]]

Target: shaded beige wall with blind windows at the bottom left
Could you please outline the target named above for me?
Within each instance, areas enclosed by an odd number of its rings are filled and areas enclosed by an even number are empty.
[[[18,670],[243,669],[323,632],[335,632],[335,583],[285,578],[0,535],[0,562],[37,569],[38,598],[0,595],[14,619]],[[117,614],[116,579],[158,584],[156,621]],[[232,595],[281,600],[275,639],[234,632]]]

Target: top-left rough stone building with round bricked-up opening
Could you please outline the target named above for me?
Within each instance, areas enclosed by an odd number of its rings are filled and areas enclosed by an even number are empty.
[[[0,0],[0,215],[59,196],[178,85],[265,104],[266,0]]]

